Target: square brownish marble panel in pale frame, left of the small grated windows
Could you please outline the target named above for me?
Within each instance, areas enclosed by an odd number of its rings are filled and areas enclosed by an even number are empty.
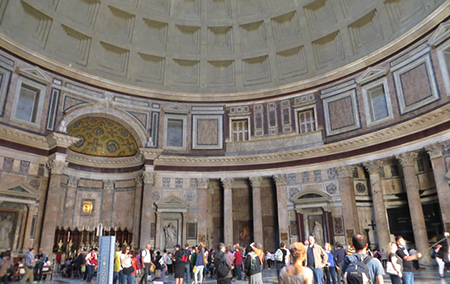
[[[193,115],[193,149],[223,148],[223,116]]]

